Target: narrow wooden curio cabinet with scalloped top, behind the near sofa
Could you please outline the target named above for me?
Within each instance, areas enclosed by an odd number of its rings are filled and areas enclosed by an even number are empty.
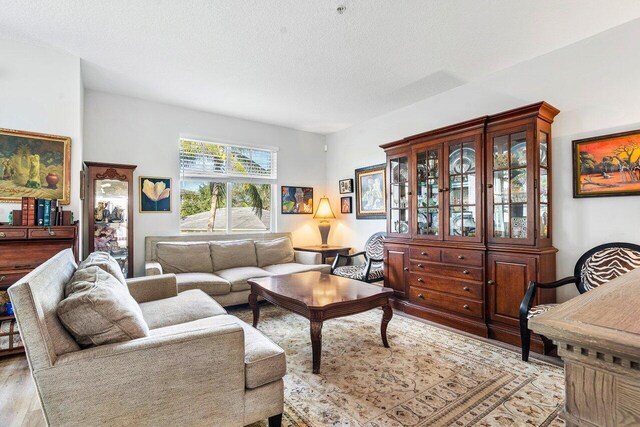
[[[133,277],[134,165],[84,162],[88,253],[109,252]]]

